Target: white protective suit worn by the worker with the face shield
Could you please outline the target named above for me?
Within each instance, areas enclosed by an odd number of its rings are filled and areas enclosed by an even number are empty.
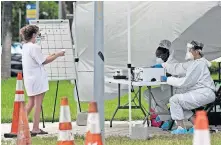
[[[182,78],[168,77],[167,79],[167,84],[180,89],[180,92],[169,100],[173,120],[189,119],[193,115],[192,109],[215,100],[215,85],[208,69],[210,62],[205,58],[189,61],[187,69],[185,64],[187,63],[162,64],[172,75],[186,73]]]

